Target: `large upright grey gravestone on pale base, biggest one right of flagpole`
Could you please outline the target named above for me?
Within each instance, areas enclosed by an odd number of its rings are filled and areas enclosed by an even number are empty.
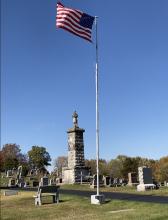
[[[137,191],[154,189],[155,185],[152,180],[152,169],[148,167],[138,167],[139,185]]]

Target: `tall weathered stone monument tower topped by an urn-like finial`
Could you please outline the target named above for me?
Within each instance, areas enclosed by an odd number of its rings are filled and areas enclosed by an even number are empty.
[[[80,183],[89,176],[89,168],[85,166],[84,159],[84,129],[78,127],[78,114],[76,111],[72,115],[73,128],[67,131],[68,134],[68,167],[62,169],[63,183]]]

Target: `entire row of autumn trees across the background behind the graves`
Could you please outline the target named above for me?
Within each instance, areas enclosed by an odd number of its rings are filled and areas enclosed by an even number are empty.
[[[0,171],[7,171],[22,165],[24,175],[30,169],[38,169],[45,173],[47,166],[51,165],[51,157],[45,147],[32,146],[27,154],[21,153],[20,146],[17,144],[5,144],[0,151]],[[67,157],[58,156],[54,159],[53,173],[61,176],[62,167],[68,165]],[[85,165],[90,167],[91,175],[96,174],[96,160],[86,159]],[[109,161],[99,160],[99,172],[101,175],[112,176],[114,178],[128,178],[129,172],[138,173],[138,167],[146,166],[152,169],[153,177],[156,181],[168,181],[168,156],[159,160],[129,157],[119,155]]]

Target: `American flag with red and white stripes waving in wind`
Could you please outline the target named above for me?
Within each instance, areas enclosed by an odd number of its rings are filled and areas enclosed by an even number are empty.
[[[57,3],[56,26],[63,28],[90,42],[94,17],[82,11],[66,8],[60,2]]]

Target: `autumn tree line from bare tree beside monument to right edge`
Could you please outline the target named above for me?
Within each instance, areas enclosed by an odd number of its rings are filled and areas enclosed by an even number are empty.
[[[54,171],[61,176],[62,168],[68,165],[67,157],[59,156],[54,160]],[[86,159],[85,166],[90,167],[91,175],[96,174],[96,160]],[[142,157],[128,157],[119,155],[109,161],[99,159],[100,175],[111,176],[113,178],[128,179],[128,173],[136,172],[138,167],[146,166],[152,169],[153,178],[156,181],[168,181],[168,156],[159,160],[153,160]]]

